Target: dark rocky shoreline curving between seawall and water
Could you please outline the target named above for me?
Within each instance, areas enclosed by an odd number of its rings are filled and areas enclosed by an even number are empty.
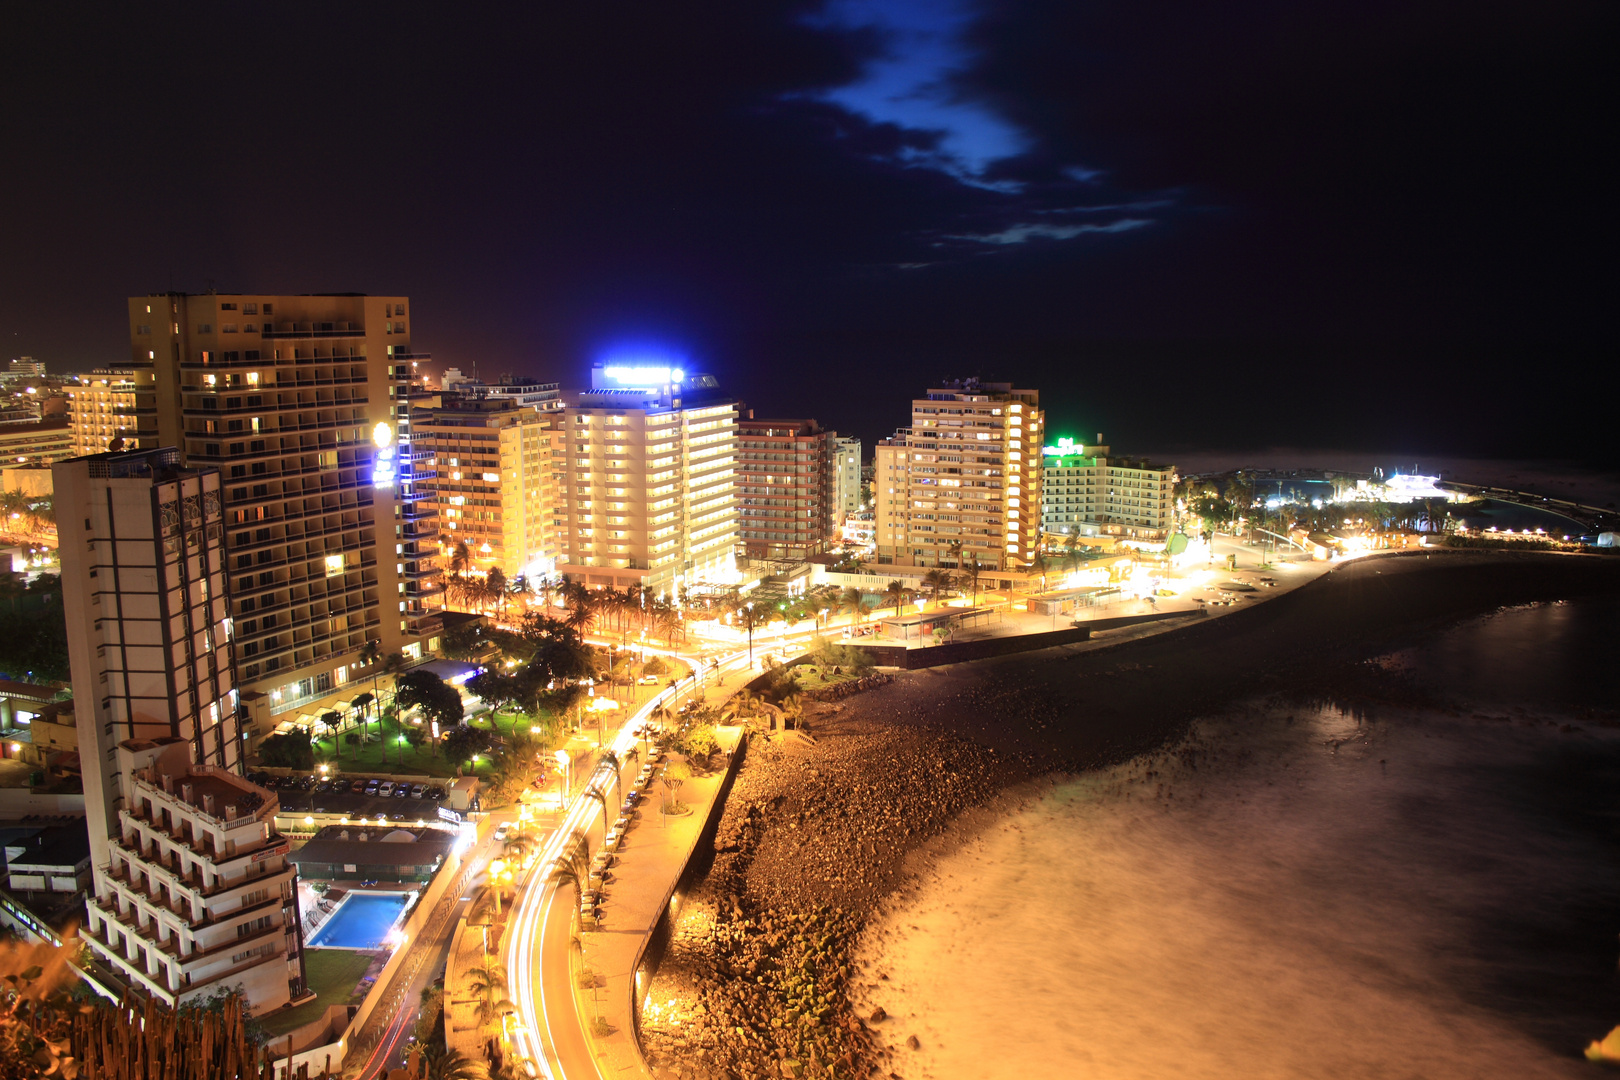
[[[757,743],[711,871],[643,1009],[669,1078],[904,1077],[909,1033],[857,1015],[855,947],[902,902],[907,855],[1016,785],[1131,759],[1223,704],[1332,695],[1345,670],[1502,604],[1620,591],[1609,560],[1369,559],[1251,610],[1118,648],[1063,646],[907,674],[813,704],[816,742]]]

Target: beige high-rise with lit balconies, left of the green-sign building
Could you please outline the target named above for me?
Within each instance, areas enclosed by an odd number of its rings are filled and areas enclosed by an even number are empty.
[[[894,562],[1017,570],[1040,547],[1040,393],[962,379],[912,402]],[[883,478],[880,476],[881,483]],[[881,518],[880,518],[881,523]],[[881,557],[885,529],[880,526]],[[899,528],[889,528],[897,536]]]

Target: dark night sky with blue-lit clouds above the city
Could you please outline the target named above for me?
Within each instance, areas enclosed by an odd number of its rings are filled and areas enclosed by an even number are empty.
[[[978,374],[1116,450],[1601,465],[1617,13],[23,5],[0,340],[89,369],[130,295],[399,293],[439,366],[679,356],[868,440]]]

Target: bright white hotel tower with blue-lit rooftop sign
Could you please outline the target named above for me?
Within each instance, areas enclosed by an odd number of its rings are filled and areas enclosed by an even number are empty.
[[[713,376],[596,366],[564,393],[559,570],[677,596],[737,576],[737,402]]]

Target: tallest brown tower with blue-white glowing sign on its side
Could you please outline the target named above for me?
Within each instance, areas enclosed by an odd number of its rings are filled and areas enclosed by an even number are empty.
[[[423,358],[408,306],[356,293],[130,300],[136,439],[220,471],[237,661],[271,717],[342,695],[366,641],[408,659],[436,648],[442,583],[410,429]]]

